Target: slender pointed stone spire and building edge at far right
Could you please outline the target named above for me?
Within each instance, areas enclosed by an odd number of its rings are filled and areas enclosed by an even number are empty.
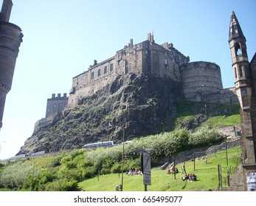
[[[235,13],[231,13],[229,48],[235,73],[235,90],[241,106],[242,166],[245,190],[256,190],[247,180],[256,179],[256,53],[249,63],[246,38]]]

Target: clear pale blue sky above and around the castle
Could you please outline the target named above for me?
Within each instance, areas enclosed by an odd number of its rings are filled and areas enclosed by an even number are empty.
[[[0,1],[2,3],[2,0]],[[173,43],[190,61],[221,67],[224,88],[234,86],[229,51],[232,10],[246,36],[249,60],[256,51],[255,0],[13,0],[10,22],[21,43],[0,132],[0,159],[14,156],[45,117],[46,99],[68,93],[72,77],[127,45]]]

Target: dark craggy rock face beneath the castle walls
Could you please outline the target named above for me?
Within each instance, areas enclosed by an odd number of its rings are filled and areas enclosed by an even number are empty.
[[[168,77],[125,74],[79,105],[35,129],[18,154],[81,148],[97,141],[125,141],[156,134],[184,100],[179,82]]]

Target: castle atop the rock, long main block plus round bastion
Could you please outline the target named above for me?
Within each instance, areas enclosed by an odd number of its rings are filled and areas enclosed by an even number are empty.
[[[184,96],[190,101],[220,101],[219,93],[223,90],[218,65],[203,61],[190,63],[190,57],[181,54],[173,43],[159,45],[150,33],[142,43],[134,44],[131,39],[128,46],[108,60],[101,63],[94,60],[87,71],[74,77],[67,107],[75,107],[83,97],[96,93],[117,76],[129,73],[170,77],[181,82]],[[204,98],[211,93],[218,93],[218,98]],[[229,91],[230,95],[235,96]]]

